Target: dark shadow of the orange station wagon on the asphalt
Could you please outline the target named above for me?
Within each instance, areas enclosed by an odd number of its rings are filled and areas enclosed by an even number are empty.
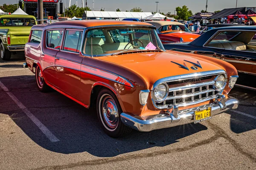
[[[0,81],[59,141],[50,142],[2,89],[0,113],[8,114],[26,136],[52,152],[88,152],[93,156],[112,157],[151,147],[164,147],[179,142],[179,139],[186,136],[207,130],[201,124],[187,124],[147,133],[133,130],[128,136],[113,139],[100,127],[95,110],[86,109],[56,91],[39,92],[36,84],[33,84],[34,76],[2,77]],[[17,88],[18,83],[22,88]]]

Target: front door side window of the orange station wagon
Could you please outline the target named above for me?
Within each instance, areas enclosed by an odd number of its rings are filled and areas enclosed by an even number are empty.
[[[63,50],[79,53],[80,46],[81,46],[81,40],[82,40],[82,34],[83,34],[82,31],[67,30],[66,35],[65,35]]]

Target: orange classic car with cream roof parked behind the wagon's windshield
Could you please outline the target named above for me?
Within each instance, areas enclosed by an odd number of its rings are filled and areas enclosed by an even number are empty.
[[[175,21],[145,21],[157,28],[157,34],[163,44],[170,42],[191,42],[200,35],[193,34],[184,24]]]

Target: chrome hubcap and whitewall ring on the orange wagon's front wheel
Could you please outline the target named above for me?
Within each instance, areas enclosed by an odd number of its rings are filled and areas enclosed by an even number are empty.
[[[102,118],[104,119],[105,125],[110,129],[115,129],[118,125],[118,109],[114,99],[105,94],[102,96]]]

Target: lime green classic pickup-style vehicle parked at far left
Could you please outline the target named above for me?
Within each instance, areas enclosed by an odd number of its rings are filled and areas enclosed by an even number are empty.
[[[24,51],[31,27],[36,25],[32,15],[0,15],[0,55],[11,58],[11,52]]]

